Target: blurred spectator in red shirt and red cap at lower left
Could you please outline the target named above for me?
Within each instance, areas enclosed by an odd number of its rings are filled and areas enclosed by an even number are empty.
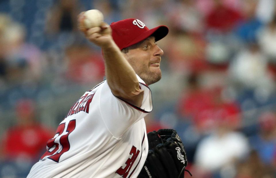
[[[53,132],[35,122],[35,108],[32,100],[20,100],[16,104],[17,124],[9,128],[2,139],[4,160],[39,159],[47,140]]]

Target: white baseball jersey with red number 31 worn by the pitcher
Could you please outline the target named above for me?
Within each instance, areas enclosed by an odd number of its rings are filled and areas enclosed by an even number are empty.
[[[57,127],[30,177],[137,177],[148,152],[144,116],[152,96],[144,90],[140,108],[115,97],[104,81],[85,92]]]

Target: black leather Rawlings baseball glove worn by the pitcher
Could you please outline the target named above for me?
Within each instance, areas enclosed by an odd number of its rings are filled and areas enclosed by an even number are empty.
[[[160,129],[149,132],[147,138],[149,152],[138,178],[183,178],[187,157],[177,132]]]

